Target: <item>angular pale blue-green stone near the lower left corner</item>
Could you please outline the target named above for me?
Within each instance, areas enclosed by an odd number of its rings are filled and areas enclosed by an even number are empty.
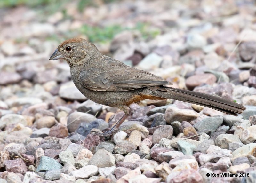
[[[42,156],[40,163],[36,168],[36,171],[48,171],[52,169],[61,169],[62,165],[55,159],[52,159],[47,156]]]

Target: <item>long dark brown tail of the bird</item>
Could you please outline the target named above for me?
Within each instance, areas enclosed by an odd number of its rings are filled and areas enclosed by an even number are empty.
[[[221,97],[215,97],[205,93],[193,92],[188,90],[182,90],[178,88],[166,88],[167,92],[155,91],[155,96],[165,99],[180,100],[183,102],[189,102],[198,104],[205,107],[210,107],[218,111],[236,115],[242,113],[246,108],[234,101],[223,99]]]

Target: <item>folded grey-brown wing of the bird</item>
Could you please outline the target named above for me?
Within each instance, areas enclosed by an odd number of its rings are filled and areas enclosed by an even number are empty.
[[[93,91],[128,91],[172,84],[151,73],[131,67],[105,72],[89,68],[80,72],[79,81],[85,88]]]

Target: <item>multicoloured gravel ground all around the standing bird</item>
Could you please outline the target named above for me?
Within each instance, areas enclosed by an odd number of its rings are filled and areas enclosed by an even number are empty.
[[[0,9],[0,183],[256,182],[255,2],[102,2],[82,12],[78,1],[51,13]],[[71,37],[173,87],[247,109],[232,116],[145,100],[109,139],[93,136],[124,113],[87,100],[68,64],[48,61]]]

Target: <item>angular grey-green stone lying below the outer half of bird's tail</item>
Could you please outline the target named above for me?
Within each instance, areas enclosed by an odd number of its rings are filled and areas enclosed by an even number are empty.
[[[194,124],[197,132],[216,130],[223,123],[222,117],[205,117]]]

